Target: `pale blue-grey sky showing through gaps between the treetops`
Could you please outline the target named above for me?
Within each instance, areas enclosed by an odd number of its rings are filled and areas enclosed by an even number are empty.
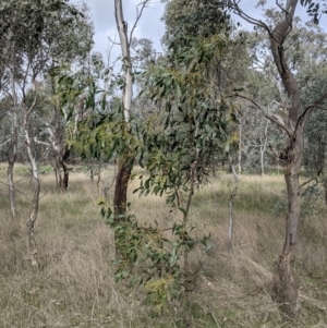
[[[85,0],[85,2],[90,8],[92,19],[95,25],[95,51],[101,52],[106,56],[106,50],[108,49],[108,36],[112,39],[118,40],[118,36],[116,33],[116,22],[113,15],[113,0]],[[135,16],[136,16],[136,4],[140,3],[141,0],[124,0],[123,1],[123,10],[124,10],[124,19],[129,24],[129,29],[132,28]],[[241,0],[240,7],[250,15],[259,17],[261,10],[255,9],[255,4],[257,0]],[[276,7],[275,0],[267,0],[266,8]],[[141,17],[137,27],[134,31],[134,36],[137,38],[149,38],[154,42],[154,48],[156,51],[161,50],[160,39],[165,33],[165,25],[161,22],[161,17],[164,14],[165,4],[161,3],[160,0],[153,0],[148,8],[146,8],[143,12],[143,16]],[[296,15],[300,15],[303,21],[308,21],[308,16],[305,13],[305,10],[299,4]],[[242,23],[241,20],[238,20]],[[243,23],[243,26],[246,24]],[[320,26],[327,31],[327,15],[320,21]],[[252,27],[251,27],[252,28]],[[111,59],[114,59],[120,53],[119,46],[116,46],[112,53]]]

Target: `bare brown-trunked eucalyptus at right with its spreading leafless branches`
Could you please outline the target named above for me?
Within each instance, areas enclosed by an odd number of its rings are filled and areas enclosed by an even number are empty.
[[[303,1],[302,1],[303,2]],[[311,3],[313,1],[305,1]],[[324,105],[327,97],[326,86],[322,93],[310,106],[301,106],[301,86],[296,78],[291,57],[287,52],[287,41],[292,37],[292,27],[294,23],[294,14],[298,7],[298,0],[288,0],[284,5],[277,3],[276,11],[279,13],[277,22],[271,25],[268,22],[256,20],[246,14],[241,8],[239,1],[228,0],[226,4],[230,7],[238,15],[246,22],[258,26],[266,31],[269,39],[269,51],[274,58],[274,63],[279,75],[280,82],[287,93],[288,101],[284,106],[286,120],[281,117],[272,116],[266,112],[257,102],[250,99],[245,95],[239,94],[239,97],[249,99],[257,107],[264,116],[272,123],[278,125],[288,137],[287,146],[287,166],[284,169],[284,180],[288,191],[288,214],[286,219],[286,238],[282,252],[277,260],[278,274],[274,280],[275,297],[282,304],[284,312],[291,316],[299,318],[300,299],[299,289],[293,277],[293,265],[295,262],[298,232],[300,227],[300,172],[302,157],[304,151],[304,126],[307,122],[310,113]]]

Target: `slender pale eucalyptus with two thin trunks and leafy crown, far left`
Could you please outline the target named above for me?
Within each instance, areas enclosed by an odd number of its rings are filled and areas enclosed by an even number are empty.
[[[9,186],[11,207],[14,208],[13,166],[17,147],[17,116],[32,167],[33,202],[27,220],[32,264],[38,265],[38,253],[34,238],[34,224],[38,214],[40,183],[35,154],[35,141],[28,129],[40,95],[40,80],[59,56],[64,56],[71,40],[62,41],[63,31],[70,31],[72,22],[80,15],[78,9],[68,1],[13,1],[1,2],[1,46],[5,48],[2,63],[10,83],[12,98],[12,147],[9,156]],[[12,210],[12,215],[15,212]]]

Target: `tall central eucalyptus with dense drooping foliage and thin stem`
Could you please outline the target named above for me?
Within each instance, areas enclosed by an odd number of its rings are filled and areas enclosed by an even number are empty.
[[[194,241],[189,220],[193,195],[206,181],[213,157],[226,156],[230,144],[227,126],[232,121],[232,109],[217,86],[220,76],[211,71],[225,49],[228,25],[216,20],[223,13],[206,3],[169,2],[164,16],[168,51],[150,65],[143,94],[160,110],[148,116],[145,129],[140,129],[140,162],[149,177],[138,190],[142,194],[166,194],[168,203],[177,204],[182,212],[182,223],[175,223],[179,228],[172,231],[180,241],[175,254],[183,259],[186,297],[192,290],[189,253]],[[211,25],[206,28],[202,20]],[[186,321],[192,325],[190,314]]]

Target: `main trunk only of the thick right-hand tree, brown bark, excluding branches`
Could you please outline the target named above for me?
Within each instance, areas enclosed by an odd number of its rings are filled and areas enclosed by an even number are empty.
[[[290,99],[288,122],[284,130],[289,136],[287,168],[284,180],[288,191],[288,214],[286,219],[286,236],[282,252],[277,260],[278,274],[275,278],[276,299],[282,305],[283,312],[292,317],[300,316],[299,288],[294,280],[293,265],[296,256],[298,233],[300,222],[300,183],[303,154],[303,125],[298,125],[300,117],[301,95],[298,83],[288,68],[283,44],[292,29],[292,20],[298,0],[288,0],[284,8],[284,17],[270,33],[270,49],[276,68],[279,72],[286,92]]]

